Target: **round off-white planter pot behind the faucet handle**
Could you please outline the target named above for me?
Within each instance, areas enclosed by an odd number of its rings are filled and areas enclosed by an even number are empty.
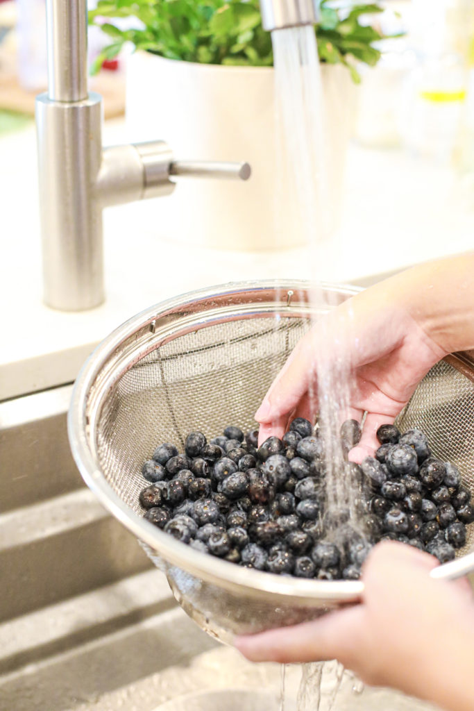
[[[334,229],[355,87],[345,68],[325,65],[323,87]],[[132,141],[166,140],[176,159],[245,160],[252,166],[247,182],[181,178],[171,196],[149,201],[145,214],[157,236],[229,250],[305,242],[292,219],[286,189],[292,178],[277,170],[273,68],[194,64],[136,52],[127,65],[126,127]]]

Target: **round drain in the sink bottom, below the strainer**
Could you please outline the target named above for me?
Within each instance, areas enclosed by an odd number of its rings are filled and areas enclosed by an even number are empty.
[[[186,694],[155,711],[279,711],[276,693],[249,689],[220,689]]]

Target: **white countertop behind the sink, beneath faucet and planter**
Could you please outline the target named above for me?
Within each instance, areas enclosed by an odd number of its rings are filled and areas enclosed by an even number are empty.
[[[104,127],[104,142],[127,141],[124,122]],[[74,380],[104,336],[158,301],[245,279],[313,278],[350,283],[410,264],[473,249],[474,187],[451,171],[402,151],[351,146],[338,235],[318,265],[303,248],[275,253],[204,250],[157,237],[141,204],[104,213],[107,301],[77,314],[41,301],[41,244],[33,127],[0,139],[0,400]],[[158,220],[159,218],[157,218]],[[177,269],[159,269],[159,264]],[[156,264],[156,278],[149,278]],[[196,268],[199,264],[199,268]]]

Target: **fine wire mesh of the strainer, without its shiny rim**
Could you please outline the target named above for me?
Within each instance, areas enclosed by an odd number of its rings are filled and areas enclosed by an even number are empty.
[[[257,315],[256,308],[252,316]],[[308,318],[294,314],[234,319],[196,326],[161,345],[157,340],[156,349],[134,363],[102,402],[95,427],[99,464],[114,491],[136,513],[141,513],[138,498],[144,486],[141,466],[157,445],[173,442],[183,447],[186,434],[196,429],[215,437],[227,424],[252,428],[262,397],[309,327]],[[471,490],[473,412],[474,384],[442,362],[419,385],[399,418],[402,431],[419,427],[426,432],[433,453],[457,464]],[[458,555],[472,547],[473,528],[468,527],[468,542]],[[295,624],[334,606],[275,607],[242,600],[178,570],[162,560],[158,550],[143,545],[166,572],[185,611],[222,641],[229,640],[229,634]]]

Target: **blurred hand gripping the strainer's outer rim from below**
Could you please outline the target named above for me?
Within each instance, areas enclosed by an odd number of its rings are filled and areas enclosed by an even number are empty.
[[[338,659],[365,683],[472,711],[474,603],[469,584],[429,577],[436,559],[398,542],[375,546],[362,602],[293,627],[237,638],[251,661]]]

